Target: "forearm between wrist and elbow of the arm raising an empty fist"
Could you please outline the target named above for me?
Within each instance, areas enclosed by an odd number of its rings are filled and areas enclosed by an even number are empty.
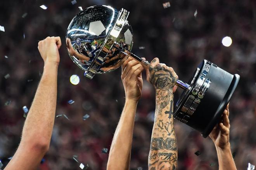
[[[21,144],[33,141],[48,145],[54,125],[57,99],[58,64],[47,63],[35,98],[24,123]]]

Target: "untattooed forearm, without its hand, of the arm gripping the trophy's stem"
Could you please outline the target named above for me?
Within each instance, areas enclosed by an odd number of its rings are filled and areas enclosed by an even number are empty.
[[[107,162],[108,170],[128,170],[137,101],[126,100],[116,132],[113,137]]]

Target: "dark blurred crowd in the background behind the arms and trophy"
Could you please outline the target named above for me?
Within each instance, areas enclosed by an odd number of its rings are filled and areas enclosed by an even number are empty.
[[[76,2],[74,5],[71,0],[0,2],[0,25],[5,28],[5,32],[0,31],[0,159],[14,155],[25,120],[22,107],[30,107],[42,75],[38,41],[60,36],[56,115],[65,114],[69,120],[63,116],[55,119],[50,149],[39,169],[78,170],[80,163],[73,160],[73,155],[84,165],[88,163],[90,170],[106,169],[108,154],[102,153],[102,149],[110,148],[125,101],[121,69],[90,80],[71,61],[64,43],[67,26],[79,12],[79,6],[106,4],[130,11],[132,52],[149,61],[159,57],[161,63],[174,68],[181,80],[188,81],[203,59],[240,75],[230,101],[230,143],[238,169],[246,169],[249,162],[256,165],[256,1],[172,0],[166,9],[163,3],[167,0]],[[40,5],[48,8],[44,10]],[[232,38],[230,47],[221,44],[225,36]],[[80,76],[78,85],[69,81],[73,74]],[[147,169],[153,126],[154,88],[146,82],[145,73],[143,77],[131,170]],[[181,89],[175,93],[175,101],[181,93]],[[69,100],[74,103],[70,105]],[[90,117],[83,120],[85,114]],[[218,169],[216,151],[209,137],[204,139],[178,121],[175,131],[179,170]],[[196,151],[201,155],[195,155]]]

